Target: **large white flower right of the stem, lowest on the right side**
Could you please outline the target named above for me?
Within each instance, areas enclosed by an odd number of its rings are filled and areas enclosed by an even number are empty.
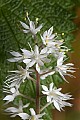
[[[61,93],[61,88],[55,88],[53,83],[50,84],[49,89],[45,85],[42,85],[42,88],[44,90],[42,93],[47,95],[47,102],[53,103],[57,110],[61,111],[65,106],[72,106],[66,102],[66,100],[72,99],[71,95]]]

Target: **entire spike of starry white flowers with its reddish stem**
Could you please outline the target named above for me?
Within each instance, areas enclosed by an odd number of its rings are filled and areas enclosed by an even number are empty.
[[[20,52],[11,51],[10,54],[13,56],[8,59],[9,62],[18,63],[18,69],[9,71],[10,75],[6,77],[3,85],[3,92],[6,96],[3,98],[4,101],[7,101],[6,104],[10,102],[14,102],[14,100],[18,96],[25,97],[26,99],[31,100],[30,102],[36,103],[36,108],[29,108],[30,103],[23,105],[22,101],[19,100],[18,107],[9,107],[5,111],[8,112],[11,117],[19,116],[23,120],[43,120],[43,115],[46,115],[44,112],[41,113],[48,105],[53,104],[54,107],[61,111],[65,106],[72,106],[67,100],[72,99],[71,95],[68,93],[61,93],[61,88],[56,88],[54,83],[50,83],[50,87],[48,89],[47,86],[40,84],[40,79],[46,80],[46,77],[54,74],[59,74],[63,80],[66,81],[65,75],[70,77],[74,77],[71,73],[75,72],[74,64],[67,63],[64,64],[66,59],[66,52],[68,48],[64,46],[65,41],[59,40],[58,35],[53,33],[53,26],[46,30],[43,35],[40,34],[42,44],[38,45],[37,33],[40,32],[43,25],[41,24],[39,27],[36,27],[35,23],[31,21],[27,15],[29,25],[24,22],[21,22],[24,33],[30,33],[32,38],[36,39],[37,44],[35,44],[34,48],[30,46],[30,50],[20,49]],[[50,56],[56,58],[56,66],[49,66],[46,68],[46,64],[50,64],[52,58]],[[23,64],[25,67],[21,66]],[[50,64],[51,65],[51,64]],[[26,80],[32,80],[32,82],[36,85],[36,97],[29,98],[24,94],[20,93],[20,86]],[[42,86],[42,92],[39,87]],[[40,104],[40,94],[44,94],[46,96],[46,104],[41,108]],[[45,98],[44,98],[45,99]],[[28,113],[24,112],[24,109],[29,110]],[[30,113],[30,114],[29,114]]]

